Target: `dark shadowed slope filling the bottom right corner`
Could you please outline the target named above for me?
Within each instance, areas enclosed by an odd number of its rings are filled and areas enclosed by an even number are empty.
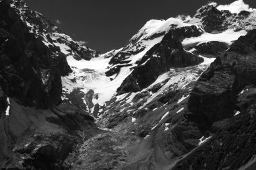
[[[241,116],[219,122],[221,130],[173,169],[255,169],[255,118],[254,100]]]

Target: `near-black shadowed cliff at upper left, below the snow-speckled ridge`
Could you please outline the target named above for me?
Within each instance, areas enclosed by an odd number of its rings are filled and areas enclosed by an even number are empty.
[[[0,83],[10,97],[38,108],[61,102],[61,75],[71,69],[65,55],[51,50],[20,19],[9,1],[0,4]]]

